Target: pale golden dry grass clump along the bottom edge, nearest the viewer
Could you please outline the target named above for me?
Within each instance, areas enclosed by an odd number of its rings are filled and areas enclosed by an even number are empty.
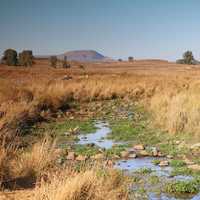
[[[128,187],[121,173],[91,169],[69,175],[68,171],[54,174],[50,182],[35,188],[35,200],[122,200],[128,199]]]

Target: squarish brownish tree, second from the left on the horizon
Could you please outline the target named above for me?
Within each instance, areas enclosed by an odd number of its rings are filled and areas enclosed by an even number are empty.
[[[33,52],[31,50],[24,50],[19,54],[19,64],[26,67],[33,65]]]

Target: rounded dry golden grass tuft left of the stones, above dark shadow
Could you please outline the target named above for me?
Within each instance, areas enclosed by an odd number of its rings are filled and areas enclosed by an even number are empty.
[[[16,155],[12,163],[12,172],[15,176],[37,178],[55,166],[59,153],[55,141],[43,139],[35,143],[29,151]]]

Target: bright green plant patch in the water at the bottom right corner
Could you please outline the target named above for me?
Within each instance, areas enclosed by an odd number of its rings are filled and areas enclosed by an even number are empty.
[[[199,192],[199,183],[197,181],[175,181],[167,183],[165,192],[175,194],[196,194]]]

